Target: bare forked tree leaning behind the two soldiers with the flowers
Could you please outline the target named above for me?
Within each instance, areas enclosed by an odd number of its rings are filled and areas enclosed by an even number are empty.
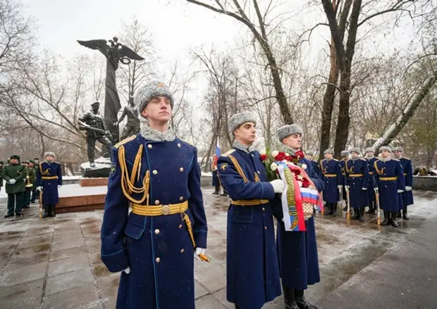
[[[202,1],[197,0],[186,1],[192,4],[197,4],[198,6],[202,6],[204,8],[208,8],[209,10],[216,13],[228,15],[249,28],[249,30],[254,35],[254,38],[259,43],[259,46],[261,46],[261,50],[266,57],[266,67],[268,66],[271,71],[271,79],[276,93],[276,100],[278,101],[279,109],[281,111],[281,115],[283,116],[283,120],[286,124],[292,124],[293,116],[290,113],[288,101],[284,94],[283,84],[281,82],[281,67],[278,64],[277,57],[273,49],[271,48],[271,42],[269,42],[269,34],[271,34],[271,32],[273,32],[276,27],[281,24],[280,22],[277,25],[273,26],[271,25],[271,23],[269,23],[268,20],[266,20],[267,15],[269,15],[269,13],[271,13],[274,8],[273,1],[269,1],[264,12],[261,12],[257,0],[253,0],[252,4],[248,3],[247,1],[239,0],[216,0],[216,6],[212,6],[210,4],[206,4]],[[241,2],[244,3],[241,4]],[[254,20],[251,20],[250,14],[247,13],[250,8],[253,8],[256,15]]]

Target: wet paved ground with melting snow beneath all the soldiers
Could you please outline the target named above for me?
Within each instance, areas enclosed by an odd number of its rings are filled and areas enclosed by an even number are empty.
[[[233,308],[226,301],[228,199],[211,193],[204,190],[211,263],[195,260],[196,306]],[[414,198],[411,220],[400,220],[398,228],[378,227],[374,215],[365,222],[316,215],[321,282],[309,287],[307,299],[321,309],[437,308],[426,306],[437,303],[437,194],[415,191]],[[6,200],[0,207],[6,210]],[[22,219],[1,217],[0,308],[115,308],[119,274],[106,270],[99,256],[102,214],[40,220],[34,204]],[[434,293],[426,293],[430,289]],[[381,301],[385,296],[389,301]],[[282,309],[281,298],[264,308]]]

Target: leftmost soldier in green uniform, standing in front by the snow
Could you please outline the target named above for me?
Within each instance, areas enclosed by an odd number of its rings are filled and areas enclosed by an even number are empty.
[[[8,194],[8,213],[4,217],[12,217],[15,214],[23,217],[23,193],[25,191],[25,177],[27,171],[24,165],[20,164],[20,156],[11,156],[11,164],[6,165],[1,172],[1,177],[6,180],[6,193]]]

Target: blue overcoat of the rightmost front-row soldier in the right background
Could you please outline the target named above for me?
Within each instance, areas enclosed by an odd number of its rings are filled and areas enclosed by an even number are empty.
[[[398,190],[405,190],[404,170],[399,160],[374,163],[376,185],[379,191],[380,207],[386,211],[398,211],[402,206],[402,197]]]

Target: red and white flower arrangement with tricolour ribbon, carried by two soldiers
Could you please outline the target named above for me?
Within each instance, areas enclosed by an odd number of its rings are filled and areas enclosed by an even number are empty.
[[[285,184],[281,203],[285,230],[290,232],[305,231],[305,220],[313,215],[314,207],[323,209],[321,195],[305,172],[307,165],[299,162],[303,157],[302,151],[290,156],[285,152],[270,152],[269,149],[261,152],[260,156],[269,181],[279,178]]]

